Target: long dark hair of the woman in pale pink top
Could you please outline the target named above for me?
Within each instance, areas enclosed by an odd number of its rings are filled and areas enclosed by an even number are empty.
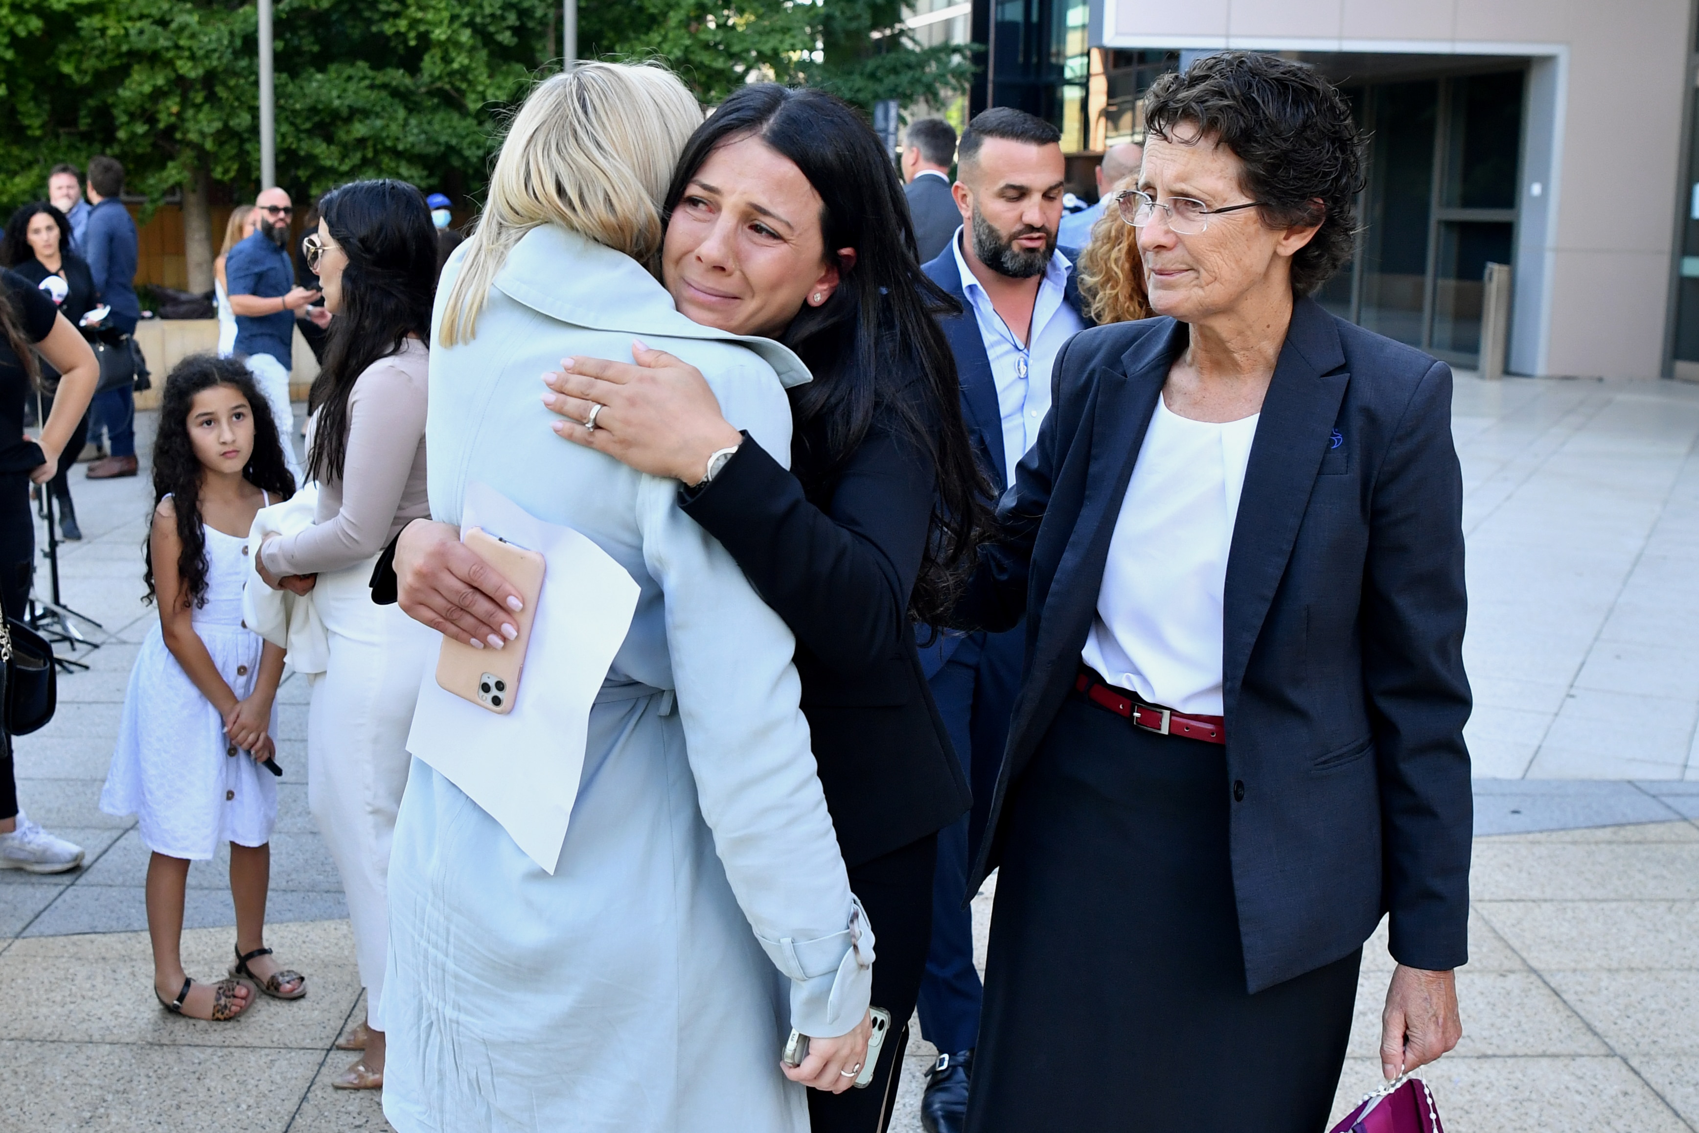
[[[341,479],[348,459],[353,382],[365,367],[401,350],[408,335],[430,340],[437,228],[425,195],[389,178],[331,189],[319,200],[319,216],[348,256],[341,309],[330,323],[325,364],[308,394],[308,413],[318,413],[308,474],[328,482]]]

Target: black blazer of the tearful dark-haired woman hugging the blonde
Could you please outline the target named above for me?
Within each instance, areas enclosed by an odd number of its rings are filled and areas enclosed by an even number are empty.
[[[856,866],[950,826],[970,803],[907,613],[936,479],[921,442],[887,413],[841,467],[816,455],[819,425],[799,425],[792,452],[795,476],[744,435],[680,506],[797,635],[826,807]],[[736,642],[727,657],[736,662]]]

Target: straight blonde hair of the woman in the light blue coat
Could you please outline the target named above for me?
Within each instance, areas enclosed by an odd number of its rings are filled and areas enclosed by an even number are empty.
[[[513,116],[489,199],[442,311],[438,340],[471,341],[513,245],[540,224],[652,265],[661,204],[702,107],[658,63],[579,63],[539,83]]]

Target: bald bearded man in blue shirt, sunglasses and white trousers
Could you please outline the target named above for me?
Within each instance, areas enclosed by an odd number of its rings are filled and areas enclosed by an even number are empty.
[[[296,207],[282,189],[267,189],[255,200],[260,226],[224,256],[229,280],[229,309],[236,313],[234,353],[248,364],[255,384],[272,404],[284,460],[301,482],[296,459],[296,416],[289,408],[289,370],[294,365],[296,311],[319,297],[296,287],[289,260],[289,223]]]

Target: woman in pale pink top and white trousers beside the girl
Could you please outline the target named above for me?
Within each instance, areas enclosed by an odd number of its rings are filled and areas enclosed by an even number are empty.
[[[394,533],[430,515],[425,404],[437,233],[413,185],[353,182],[325,194],[306,248],[325,309],[336,314],[308,397],[318,504],[313,527],[260,545],[258,567],[274,589],[311,589],[330,637],[326,669],[308,678],[308,805],[348,895],[367,1014],[347,1043],[364,1055],[331,1085],[381,1089],[384,1031],[372,1019],[382,1011],[389,950],[389,843],[430,642],[399,610],[372,603],[369,579]]]

